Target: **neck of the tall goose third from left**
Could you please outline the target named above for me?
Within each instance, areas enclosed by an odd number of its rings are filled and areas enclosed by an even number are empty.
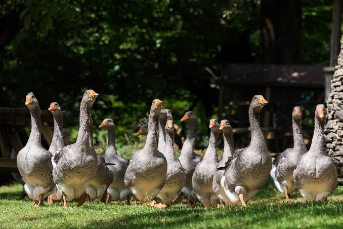
[[[80,124],[79,130],[77,134],[76,144],[85,144],[90,146],[90,116],[91,116],[91,108],[88,107],[87,103],[81,102],[80,105]]]

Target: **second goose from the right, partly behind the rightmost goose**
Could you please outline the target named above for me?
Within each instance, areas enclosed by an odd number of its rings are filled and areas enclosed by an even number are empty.
[[[292,111],[292,130],[293,130],[293,148],[287,148],[281,152],[273,161],[271,177],[274,180],[278,190],[285,194],[286,200],[294,192],[293,171],[299,162],[300,157],[307,152],[302,134],[303,113],[299,106],[294,106]]]

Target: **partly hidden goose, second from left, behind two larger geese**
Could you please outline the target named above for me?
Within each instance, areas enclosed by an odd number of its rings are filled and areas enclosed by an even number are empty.
[[[52,164],[54,167],[56,167],[56,163],[54,163],[55,155],[57,152],[61,150],[61,148],[64,147],[64,128],[63,128],[63,116],[62,116],[62,110],[60,105],[57,102],[50,103],[50,106],[48,108],[50,112],[52,113],[54,117],[54,135],[53,139],[51,141],[49,152],[52,154]],[[54,204],[55,201],[59,201],[62,199],[62,194],[60,191],[56,188],[54,193],[48,197],[48,203],[49,205]]]

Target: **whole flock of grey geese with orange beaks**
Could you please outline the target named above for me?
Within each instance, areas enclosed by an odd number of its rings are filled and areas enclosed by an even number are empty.
[[[155,208],[168,208],[184,193],[189,207],[199,200],[204,208],[242,205],[258,193],[269,175],[276,188],[285,195],[299,189],[308,201],[326,200],[337,186],[337,171],[332,159],[323,149],[326,109],[318,104],[315,111],[315,129],[312,144],[307,150],[302,135],[301,108],[292,111],[293,148],[277,154],[274,161],[269,154],[260,128],[260,113],[268,101],[254,95],[248,117],[251,129],[250,144],[235,150],[233,129],[228,120],[209,121],[210,138],[204,157],[194,153],[198,118],[187,111],[181,121],[189,125],[188,135],[176,157],[174,151],[173,116],[152,101],[148,124],[142,125],[138,135],[147,135],[142,149],[127,161],[117,154],[115,124],[104,119],[99,128],[107,130],[105,156],[93,148],[91,109],[99,95],[93,90],[84,92],[79,112],[79,131],[76,142],[64,144],[62,110],[57,102],[50,104],[54,118],[54,135],[49,150],[41,144],[40,107],[32,92],[26,95],[25,105],[31,114],[31,133],[26,145],[17,155],[17,166],[25,182],[24,189],[33,206],[49,205],[59,201],[64,208],[75,200],[125,201],[131,204],[131,195],[140,203]],[[223,133],[224,153],[217,158],[217,142]]]

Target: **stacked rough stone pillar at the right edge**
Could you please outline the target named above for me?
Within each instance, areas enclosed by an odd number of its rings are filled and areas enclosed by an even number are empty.
[[[343,181],[343,45],[340,46],[337,62],[327,99],[324,147],[335,163],[338,180]]]

